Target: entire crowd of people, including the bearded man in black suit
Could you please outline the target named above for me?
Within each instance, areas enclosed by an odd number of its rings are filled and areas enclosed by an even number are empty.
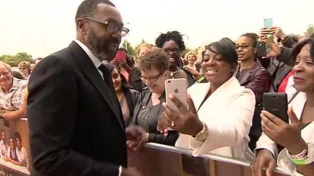
[[[125,148],[156,142],[191,149],[194,156],[209,152],[250,161],[253,175],[264,167],[270,175],[276,165],[293,175],[314,174],[314,36],[299,39],[279,27],[261,28],[182,55],[183,34],[169,31],[154,45],[140,45],[135,62],[118,49],[129,30],[111,2],[86,0],[75,20],[77,36],[69,48],[36,65],[21,62],[20,73],[0,62],[0,117],[29,118],[38,173],[136,175],[125,169]],[[261,43],[268,46],[264,56]],[[166,103],[170,78],[187,80],[188,107],[169,96],[179,112]],[[289,123],[263,110],[266,92],[288,95]],[[25,165],[4,152],[12,147],[2,135],[1,157]],[[16,141],[18,153],[21,138]]]

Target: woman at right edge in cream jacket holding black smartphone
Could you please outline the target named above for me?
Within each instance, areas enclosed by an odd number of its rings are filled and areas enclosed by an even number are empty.
[[[262,111],[263,133],[256,142],[254,175],[266,167],[270,175],[277,164],[292,175],[314,175],[314,39],[306,39],[292,51],[294,87],[287,87],[289,124]],[[276,143],[285,148],[279,151]]]

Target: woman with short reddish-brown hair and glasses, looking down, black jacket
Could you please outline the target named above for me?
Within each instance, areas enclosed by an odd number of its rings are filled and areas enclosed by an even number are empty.
[[[174,145],[178,132],[170,131],[165,137],[157,130],[158,118],[164,111],[163,102],[166,102],[165,81],[171,78],[168,56],[162,49],[155,47],[142,56],[137,64],[147,88],[138,95],[130,125],[138,125],[144,129],[145,142]],[[133,146],[132,141],[127,144],[129,147]]]

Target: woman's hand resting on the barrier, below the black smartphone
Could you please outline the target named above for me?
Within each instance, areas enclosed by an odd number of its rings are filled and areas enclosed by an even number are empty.
[[[271,176],[276,167],[276,160],[273,154],[267,149],[260,149],[257,157],[254,159],[252,168],[253,176],[262,176],[263,167],[266,168],[266,175]]]

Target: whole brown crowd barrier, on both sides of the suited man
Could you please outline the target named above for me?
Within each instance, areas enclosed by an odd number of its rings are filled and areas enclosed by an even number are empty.
[[[30,175],[31,158],[29,148],[29,128],[27,118],[15,121],[0,120],[0,147],[16,148],[16,153],[21,145],[17,144],[16,134],[21,136],[21,144],[26,155],[21,161],[14,154],[0,152],[0,175]],[[3,142],[4,140],[6,142]],[[19,153],[21,154],[21,153]],[[11,161],[8,158],[11,158]],[[17,162],[19,163],[17,163]],[[21,164],[22,163],[22,164]],[[215,154],[205,154],[193,157],[191,150],[158,143],[146,143],[141,149],[128,151],[129,166],[136,167],[143,175],[211,175],[211,176],[240,176],[252,175],[250,163]],[[277,168],[273,176],[289,175]]]

